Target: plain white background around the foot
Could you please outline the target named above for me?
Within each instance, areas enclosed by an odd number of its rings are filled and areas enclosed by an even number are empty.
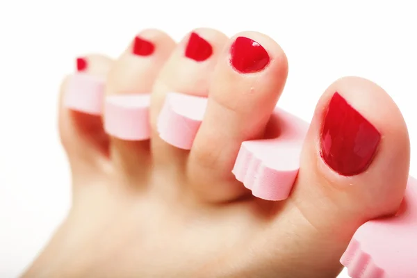
[[[74,57],[116,57],[142,28],[162,28],[180,40],[199,26],[227,35],[261,31],[277,40],[290,64],[280,106],[305,120],[341,76],[382,85],[409,126],[417,174],[413,1],[0,0],[0,277],[19,275],[70,204],[56,102]]]

